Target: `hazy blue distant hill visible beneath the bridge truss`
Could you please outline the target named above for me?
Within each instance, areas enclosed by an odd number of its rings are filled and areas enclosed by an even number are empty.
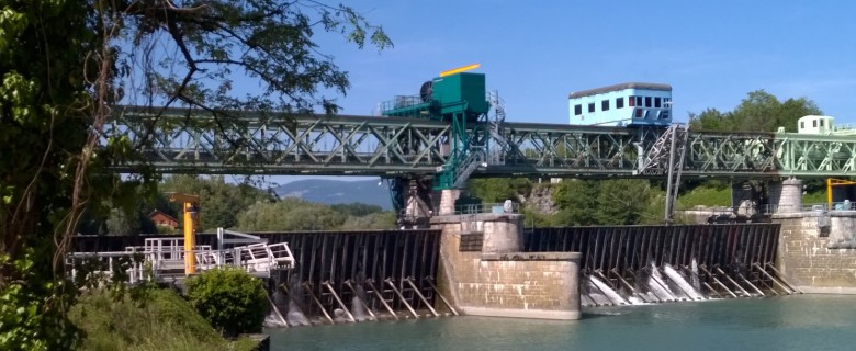
[[[380,179],[361,181],[307,179],[280,185],[273,191],[280,197],[300,197],[328,205],[359,202],[392,210],[390,188],[386,183],[379,186],[378,182]]]

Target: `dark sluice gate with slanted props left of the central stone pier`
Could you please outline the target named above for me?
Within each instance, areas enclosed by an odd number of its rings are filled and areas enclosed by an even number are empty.
[[[271,299],[289,326],[438,316],[440,230],[255,233],[288,242],[294,265],[271,272]],[[122,251],[147,237],[78,236],[76,252]],[[153,237],[148,237],[153,238]],[[216,236],[196,235],[216,247]],[[368,308],[367,308],[368,307]]]

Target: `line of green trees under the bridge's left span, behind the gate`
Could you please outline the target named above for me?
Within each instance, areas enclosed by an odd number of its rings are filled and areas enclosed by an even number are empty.
[[[158,184],[151,196],[139,196],[126,204],[116,204],[95,213],[91,208],[80,222],[83,235],[177,234],[181,226],[156,224],[149,218],[160,211],[182,222],[181,204],[171,203],[169,193],[200,196],[200,229],[212,233],[216,228],[241,231],[289,230],[361,230],[393,229],[395,213],[381,206],[363,203],[325,205],[297,197],[279,199],[246,183],[229,183],[222,176],[172,176]]]

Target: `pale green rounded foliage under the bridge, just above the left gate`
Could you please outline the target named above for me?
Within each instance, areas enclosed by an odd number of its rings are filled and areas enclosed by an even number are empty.
[[[348,217],[333,208],[300,199],[257,202],[238,214],[238,228],[245,231],[331,230]]]

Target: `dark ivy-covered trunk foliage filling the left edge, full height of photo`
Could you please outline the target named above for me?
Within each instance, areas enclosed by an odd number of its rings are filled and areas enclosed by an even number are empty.
[[[87,137],[83,59],[97,42],[88,15],[78,1],[0,2],[0,350],[76,340],[64,314],[74,290],[54,280],[54,235],[74,214]]]

